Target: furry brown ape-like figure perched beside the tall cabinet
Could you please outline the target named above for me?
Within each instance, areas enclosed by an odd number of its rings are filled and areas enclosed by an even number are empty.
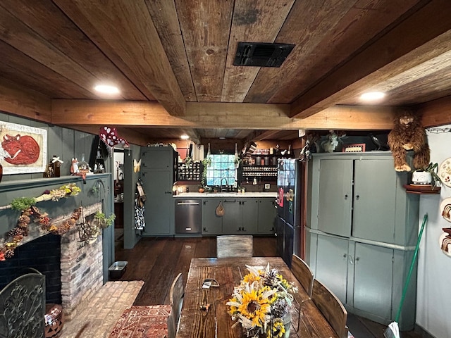
[[[407,150],[414,151],[414,169],[425,169],[429,164],[430,150],[419,114],[404,110],[395,115],[393,130],[388,134],[388,146],[395,160],[396,171],[411,170],[406,162]]]

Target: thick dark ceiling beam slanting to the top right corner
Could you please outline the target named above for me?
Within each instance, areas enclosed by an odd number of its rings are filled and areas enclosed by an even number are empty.
[[[400,63],[412,67],[426,61],[425,46],[436,54],[428,57],[440,55],[443,51],[438,46],[449,43],[450,17],[449,1],[437,0],[400,18],[393,29],[301,94],[292,104],[290,116],[307,118],[401,73],[406,68],[397,68]]]

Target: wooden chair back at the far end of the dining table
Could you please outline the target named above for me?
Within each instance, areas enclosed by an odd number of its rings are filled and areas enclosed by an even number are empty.
[[[216,237],[216,253],[218,258],[252,257],[254,250],[252,235],[235,234]]]

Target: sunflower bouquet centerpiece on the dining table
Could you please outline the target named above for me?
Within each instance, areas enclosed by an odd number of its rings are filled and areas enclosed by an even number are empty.
[[[246,337],[288,337],[290,308],[297,287],[283,278],[277,269],[246,265],[249,273],[234,288],[230,306],[233,325],[240,324]]]

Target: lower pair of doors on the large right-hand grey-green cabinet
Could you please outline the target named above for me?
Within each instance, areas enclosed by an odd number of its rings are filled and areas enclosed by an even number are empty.
[[[325,283],[348,309],[390,323],[396,308],[392,286],[395,251],[328,234],[314,237],[316,262],[311,268],[315,278]]]

